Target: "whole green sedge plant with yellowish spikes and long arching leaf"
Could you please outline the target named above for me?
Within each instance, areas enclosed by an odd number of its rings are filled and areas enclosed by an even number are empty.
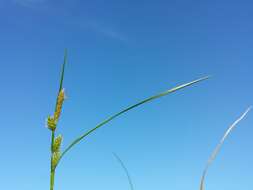
[[[122,114],[124,114],[124,113],[126,113],[126,112],[140,106],[140,105],[143,105],[143,104],[148,103],[152,100],[163,97],[165,95],[174,93],[174,92],[181,90],[183,88],[186,88],[188,86],[192,86],[193,84],[196,84],[198,82],[201,82],[201,81],[209,78],[208,76],[199,78],[197,80],[176,86],[172,89],[169,89],[169,90],[159,93],[157,95],[146,98],[142,101],[137,102],[136,104],[130,105],[130,106],[126,107],[125,109],[119,111],[118,113],[108,117],[104,121],[100,122],[98,125],[91,128],[87,132],[83,133],[81,136],[79,136],[75,140],[73,140],[72,143],[70,143],[63,151],[61,151],[62,136],[61,135],[56,136],[56,129],[57,129],[58,121],[61,116],[63,102],[65,100],[65,91],[63,88],[63,80],[64,80],[64,72],[65,72],[66,63],[67,63],[67,51],[65,50],[64,62],[62,65],[61,78],[60,78],[60,86],[59,86],[58,96],[57,96],[56,105],[55,105],[55,111],[54,111],[53,115],[51,115],[47,118],[47,127],[51,131],[50,190],[54,190],[55,171],[56,171],[56,168],[57,168],[59,162],[61,161],[61,159],[66,155],[67,152],[69,152],[70,149],[72,149],[81,140],[85,139],[85,137],[87,137],[89,134],[93,133],[94,131],[96,131],[100,127],[104,126],[108,122],[117,118],[118,116],[121,116]]]

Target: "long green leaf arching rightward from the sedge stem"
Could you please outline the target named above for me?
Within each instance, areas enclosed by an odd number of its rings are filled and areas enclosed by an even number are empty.
[[[140,106],[140,105],[142,105],[142,104],[145,104],[145,103],[147,103],[147,102],[150,102],[150,101],[155,100],[155,99],[157,99],[157,98],[160,98],[160,97],[162,97],[162,96],[171,94],[171,93],[173,93],[173,92],[176,92],[176,91],[178,91],[178,90],[180,90],[180,89],[183,89],[183,88],[185,88],[185,87],[191,86],[191,85],[193,85],[193,84],[195,84],[195,83],[198,83],[198,82],[200,82],[200,81],[206,80],[206,79],[208,79],[208,78],[209,78],[209,77],[207,76],[207,77],[203,77],[203,78],[194,80],[194,81],[189,82],[189,83],[185,83],[185,84],[179,85],[179,86],[177,86],[177,87],[174,87],[174,88],[172,88],[172,89],[170,89],[170,90],[167,90],[167,91],[162,92],[162,93],[160,93],[160,94],[157,94],[157,95],[155,95],[155,96],[151,96],[151,97],[149,97],[149,98],[147,98],[147,99],[144,99],[144,100],[142,100],[142,101],[140,101],[140,102],[138,102],[138,103],[136,103],[136,104],[134,104],[134,105],[132,105],[132,106],[129,106],[129,107],[123,109],[122,111],[120,111],[120,112],[116,113],[115,115],[113,115],[113,116],[107,118],[106,120],[104,120],[104,121],[102,121],[101,123],[99,123],[99,124],[98,124],[96,127],[94,127],[93,129],[90,129],[89,131],[87,131],[86,133],[84,133],[83,135],[81,135],[80,137],[78,137],[77,139],[75,139],[75,140],[63,151],[63,153],[62,153],[62,155],[61,155],[61,158],[62,158],[74,145],[78,144],[78,143],[79,143],[81,140],[83,140],[86,136],[88,136],[88,135],[91,134],[92,132],[96,131],[97,129],[99,129],[99,128],[102,127],[103,125],[107,124],[107,123],[110,122],[111,120],[115,119],[116,117],[122,115],[123,113],[128,112],[128,111],[130,111],[130,110],[132,110],[132,109],[134,109],[134,108],[136,108],[136,107],[138,107],[138,106]],[[60,159],[61,159],[61,158],[60,158]]]

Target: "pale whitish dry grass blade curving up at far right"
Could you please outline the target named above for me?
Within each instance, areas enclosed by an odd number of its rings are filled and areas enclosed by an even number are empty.
[[[219,153],[225,139],[228,137],[228,135],[231,133],[231,131],[237,126],[237,124],[247,115],[247,113],[251,110],[251,107],[249,107],[225,132],[223,137],[221,138],[219,144],[215,147],[214,151],[212,152],[211,156],[209,157],[207,164],[205,166],[205,169],[203,171],[201,182],[200,182],[200,190],[204,190],[204,183],[205,183],[205,177],[208,171],[209,166],[212,164],[214,159],[216,158],[217,154]]]

